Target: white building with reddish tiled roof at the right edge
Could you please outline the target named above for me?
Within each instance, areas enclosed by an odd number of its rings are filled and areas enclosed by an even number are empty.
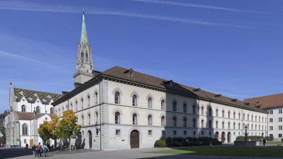
[[[254,97],[245,99],[246,102],[254,103],[269,112],[267,119],[267,130],[265,135],[273,136],[275,141],[282,139],[282,109],[283,109],[283,93],[276,95],[267,95],[263,97]]]

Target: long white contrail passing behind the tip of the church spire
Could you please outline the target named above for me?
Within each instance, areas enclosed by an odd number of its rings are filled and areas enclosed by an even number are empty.
[[[40,4],[32,2],[16,2],[16,1],[4,1],[0,4],[0,9],[9,9],[9,10],[26,10],[26,11],[50,11],[50,12],[67,12],[67,13],[81,13],[81,11],[76,11],[78,7],[75,6],[58,6],[51,4]],[[131,16],[137,18],[146,18],[146,19],[157,19],[165,21],[176,21],[187,24],[197,24],[205,26],[220,26],[220,27],[237,27],[237,28],[253,28],[245,25],[237,24],[224,24],[224,23],[213,23],[209,21],[193,20],[187,18],[179,17],[168,17],[168,16],[159,16],[151,14],[137,14],[129,11],[119,11],[113,9],[100,9],[100,8],[85,8],[88,10],[89,14],[106,14],[106,15],[118,15],[118,16]]]

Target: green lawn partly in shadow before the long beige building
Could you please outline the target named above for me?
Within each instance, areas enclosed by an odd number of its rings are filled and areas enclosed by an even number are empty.
[[[229,156],[283,156],[281,148],[216,146],[190,147],[147,153],[187,154],[187,155],[229,155]]]

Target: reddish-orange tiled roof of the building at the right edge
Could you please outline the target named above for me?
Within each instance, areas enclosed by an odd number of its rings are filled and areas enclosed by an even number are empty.
[[[255,105],[261,105],[262,109],[283,107],[283,93],[276,95],[267,95],[263,97],[254,97],[244,99],[244,102],[251,102]]]

